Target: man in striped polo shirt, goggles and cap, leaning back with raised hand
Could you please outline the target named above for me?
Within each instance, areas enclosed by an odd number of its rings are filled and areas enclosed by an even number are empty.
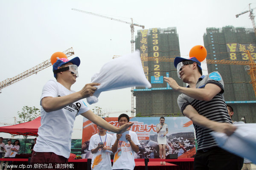
[[[171,88],[182,94],[177,102],[184,116],[192,120],[198,142],[194,170],[241,170],[243,158],[222,150],[210,135],[212,131],[230,136],[236,127],[227,113],[224,82],[218,72],[202,76],[201,62],[195,57],[176,57],[177,75],[188,86],[180,87],[171,77],[164,77]]]

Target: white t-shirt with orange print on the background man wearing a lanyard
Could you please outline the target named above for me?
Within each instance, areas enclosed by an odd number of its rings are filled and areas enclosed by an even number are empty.
[[[90,138],[90,144],[89,144],[89,149],[92,150],[96,148],[99,144],[99,142],[105,142],[105,147],[111,147],[111,140],[113,136],[111,134],[106,133],[104,136],[99,136],[99,133],[94,134]],[[102,152],[105,155],[105,158],[103,156],[102,158]],[[110,153],[103,151],[101,149],[98,150],[98,152],[93,154],[92,158],[92,164],[91,164],[92,170],[111,170],[111,159],[110,159]]]

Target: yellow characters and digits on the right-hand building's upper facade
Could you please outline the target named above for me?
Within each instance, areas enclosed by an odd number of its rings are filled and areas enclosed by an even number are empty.
[[[248,60],[247,50],[250,51],[252,58],[256,59],[256,44],[227,43],[226,45],[230,60]]]

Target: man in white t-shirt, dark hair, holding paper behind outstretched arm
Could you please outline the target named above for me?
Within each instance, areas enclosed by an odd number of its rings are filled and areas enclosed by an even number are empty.
[[[119,126],[130,121],[127,114],[121,114],[118,117]],[[129,134],[125,135],[128,141],[119,140],[122,134],[113,134],[112,138],[112,152],[115,154],[113,160],[112,170],[133,170],[135,167],[134,155],[139,152],[140,142],[135,132],[129,130]]]

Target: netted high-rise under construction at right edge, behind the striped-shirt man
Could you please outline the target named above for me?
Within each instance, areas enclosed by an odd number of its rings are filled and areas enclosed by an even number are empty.
[[[247,50],[256,61],[256,37],[253,29],[207,28],[204,34],[204,46],[207,59],[248,61]],[[234,121],[245,119],[246,123],[256,122],[256,97],[251,78],[244,69],[245,65],[209,64],[208,73],[218,71],[224,81],[224,97],[226,103],[234,108]]]

